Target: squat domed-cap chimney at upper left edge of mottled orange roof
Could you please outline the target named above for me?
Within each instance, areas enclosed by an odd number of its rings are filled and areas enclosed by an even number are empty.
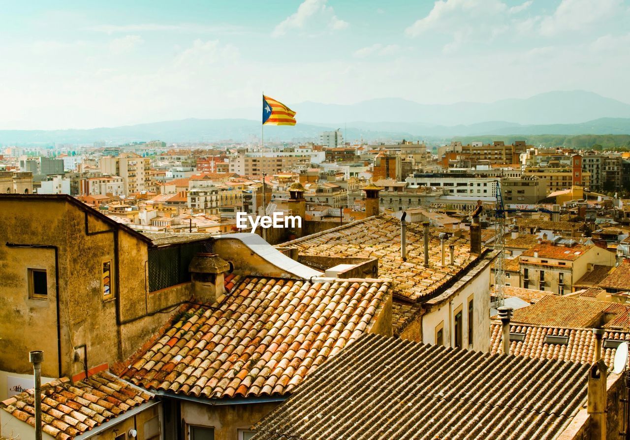
[[[229,264],[215,253],[197,253],[188,271],[192,278],[193,296],[204,304],[212,304],[225,293],[225,274]]]

